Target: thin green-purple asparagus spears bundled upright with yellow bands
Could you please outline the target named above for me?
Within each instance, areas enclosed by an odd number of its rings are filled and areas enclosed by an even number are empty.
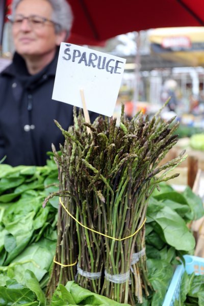
[[[167,173],[185,157],[160,165],[177,142],[179,123],[165,122],[160,112],[149,120],[98,117],[86,123],[74,110],[74,125],[57,152],[61,196],[58,244],[47,295],[56,285],[75,279],[82,287],[120,303],[142,302],[148,295],[145,216],[148,198]],[[91,133],[87,133],[87,126]],[[164,171],[165,170],[165,171]],[[162,174],[161,174],[162,173]],[[77,262],[77,274],[75,274]],[[75,275],[77,275],[75,277]],[[75,278],[74,278],[75,277]]]

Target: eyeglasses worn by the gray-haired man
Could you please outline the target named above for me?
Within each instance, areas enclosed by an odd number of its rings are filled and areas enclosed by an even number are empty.
[[[53,20],[47,19],[45,17],[37,16],[37,15],[30,15],[28,17],[25,17],[23,15],[15,15],[14,17],[12,17],[11,15],[9,15],[8,19],[15,27],[20,27],[24,19],[28,20],[30,26],[35,29],[43,27],[45,22],[51,22],[54,25],[58,25],[58,27],[60,27],[59,23],[56,23]]]

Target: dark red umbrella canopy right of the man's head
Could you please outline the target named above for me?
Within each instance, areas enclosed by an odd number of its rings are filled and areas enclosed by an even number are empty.
[[[67,0],[74,23],[69,42],[98,44],[119,34],[204,25],[203,0]]]

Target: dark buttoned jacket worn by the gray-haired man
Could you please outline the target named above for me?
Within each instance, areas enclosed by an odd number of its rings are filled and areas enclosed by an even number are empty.
[[[67,130],[73,107],[52,99],[58,52],[42,71],[30,75],[17,53],[0,74],[0,160],[17,165],[45,165],[47,151],[64,143],[56,119]],[[98,114],[90,112],[93,121]]]

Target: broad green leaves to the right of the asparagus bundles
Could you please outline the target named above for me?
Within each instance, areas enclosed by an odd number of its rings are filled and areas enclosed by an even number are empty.
[[[173,276],[176,258],[193,254],[195,239],[189,230],[192,220],[203,216],[202,200],[190,187],[182,193],[160,183],[149,199],[146,221],[146,256],[152,291],[145,305],[162,305]]]

